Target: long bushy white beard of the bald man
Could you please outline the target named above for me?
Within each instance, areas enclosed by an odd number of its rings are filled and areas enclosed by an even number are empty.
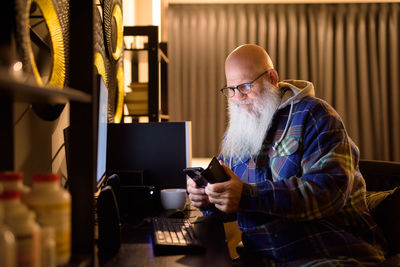
[[[276,87],[269,82],[264,87],[260,97],[253,101],[251,111],[229,101],[230,119],[222,144],[224,156],[243,159],[246,156],[256,156],[260,152],[268,126],[281,102],[281,95]]]

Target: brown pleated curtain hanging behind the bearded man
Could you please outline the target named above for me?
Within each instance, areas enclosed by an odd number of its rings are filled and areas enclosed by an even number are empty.
[[[172,121],[192,121],[194,157],[218,154],[227,123],[225,57],[256,43],[280,80],[314,83],[343,118],[361,158],[400,161],[399,5],[169,6]]]

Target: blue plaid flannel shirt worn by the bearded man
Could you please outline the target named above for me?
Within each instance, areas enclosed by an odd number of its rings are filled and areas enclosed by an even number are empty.
[[[237,213],[243,243],[280,263],[342,256],[381,262],[386,243],[367,208],[358,148],[311,89],[292,108],[278,109],[256,158],[220,155],[245,182]]]

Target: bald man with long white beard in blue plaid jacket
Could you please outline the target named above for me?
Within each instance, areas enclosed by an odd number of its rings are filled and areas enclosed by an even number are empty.
[[[386,241],[365,200],[359,151],[311,82],[279,82],[268,53],[246,44],[225,62],[229,125],[219,159],[230,176],[189,198],[236,213],[245,251],[287,266],[375,265]],[[265,263],[265,261],[264,261]]]

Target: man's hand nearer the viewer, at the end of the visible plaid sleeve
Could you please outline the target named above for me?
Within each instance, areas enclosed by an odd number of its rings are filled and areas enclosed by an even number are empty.
[[[226,213],[233,213],[239,209],[243,182],[231,169],[223,164],[221,165],[224,167],[230,180],[222,183],[208,184],[205,192],[208,195],[209,201],[214,203],[217,209]]]

